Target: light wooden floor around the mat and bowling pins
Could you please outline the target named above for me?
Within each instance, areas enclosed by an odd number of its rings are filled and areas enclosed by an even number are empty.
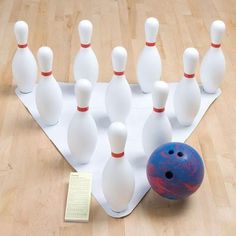
[[[94,24],[99,81],[111,78],[111,49],[123,45],[128,50],[128,80],[136,82],[135,65],[143,47],[143,24],[148,16],[160,21],[157,45],[165,81],[181,77],[186,47],[196,47],[202,58],[209,47],[213,20],[226,23],[223,93],[187,140],[204,157],[203,185],[185,202],[166,201],[150,191],[123,219],[107,216],[93,198],[88,224],[65,223],[72,168],[14,94],[14,22],[28,22],[29,45],[34,53],[42,45],[53,49],[54,74],[59,81],[69,82],[73,81],[73,59],[79,48],[77,25],[88,18]],[[1,0],[0,45],[1,236],[236,234],[235,0]]]

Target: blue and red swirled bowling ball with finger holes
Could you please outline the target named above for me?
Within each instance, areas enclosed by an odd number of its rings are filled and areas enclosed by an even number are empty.
[[[184,143],[158,147],[147,163],[147,178],[162,197],[178,200],[194,193],[202,183],[204,164],[201,156]]]

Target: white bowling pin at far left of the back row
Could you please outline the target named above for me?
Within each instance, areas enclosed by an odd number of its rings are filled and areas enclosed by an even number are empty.
[[[37,79],[37,63],[28,47],[28,25],[24,21],[17,21],[14,32],[18,48],[12,60],[13,79],[20,92],[32,92]]]

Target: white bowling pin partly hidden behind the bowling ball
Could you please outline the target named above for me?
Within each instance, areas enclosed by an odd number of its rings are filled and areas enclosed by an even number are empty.
[[[156,81],[153,85],[153,111],[143,126],[143,149],[147,157],[162,144],[171,142],[172,127],[165,113],[166,100],[169,93],[168,84]]]

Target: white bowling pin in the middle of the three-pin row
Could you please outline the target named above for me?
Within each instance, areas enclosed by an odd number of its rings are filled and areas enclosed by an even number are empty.
[[[131,109],[132,93],[125,77],[127,51],[123,47],[112,50],[113,77],[106,91],[106,110],[111,120],[125,122]]]

